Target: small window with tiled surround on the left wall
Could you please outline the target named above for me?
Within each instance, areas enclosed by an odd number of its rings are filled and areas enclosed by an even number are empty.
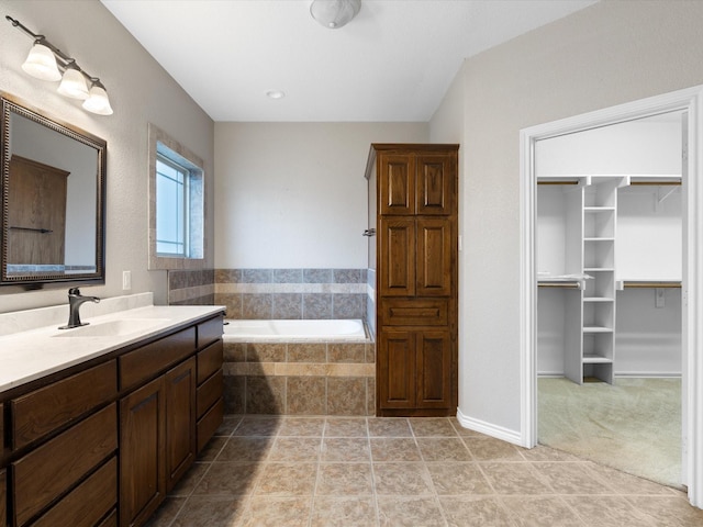
[[[149,269],[203,265],[202,161],[149,124]]]

